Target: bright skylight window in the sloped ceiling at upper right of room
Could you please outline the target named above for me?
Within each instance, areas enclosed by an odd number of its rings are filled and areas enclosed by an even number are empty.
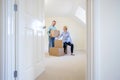
[[[80,19],[84,24],[86,24],[86,11],[81,8],[80,6],[78,7],[75,16]]]

